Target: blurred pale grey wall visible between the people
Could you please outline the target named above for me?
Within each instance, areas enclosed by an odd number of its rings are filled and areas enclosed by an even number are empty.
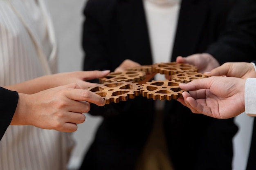
[[[46,0],[52,13],[52,19],[59,44],[58,71],[79,71],[82,69],[83,52],[81,49],[81,28],[83,7],[86,0]],[[85,123],[79,124],[74,132],[76,148],[70,159],[70,170],[80,165],[83,153],[93,138],[94,132],[101,121],[100,117],[86,115]],[[233,170],[245,170],[250,145],[252,117],[245,113],[236,118],[239,132],[234,138]]]

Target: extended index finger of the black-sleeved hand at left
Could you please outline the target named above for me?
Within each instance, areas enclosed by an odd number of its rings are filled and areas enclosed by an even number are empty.
[[[100,95],[97,95],[96,93],[93,93],[88,90],[69,88],[69,91],[67,92],[66,96],[69,99],[87,101],[90,103],[97,104],[98,106],[105,105],[105,101]]]

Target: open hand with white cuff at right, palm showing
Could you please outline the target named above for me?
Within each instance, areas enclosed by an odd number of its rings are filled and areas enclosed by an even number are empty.
[[[235,117],[245,111],[245,79],[236,77],[208,77],[179,84],[189,91],[178,101],[193,113],[218,119]]]

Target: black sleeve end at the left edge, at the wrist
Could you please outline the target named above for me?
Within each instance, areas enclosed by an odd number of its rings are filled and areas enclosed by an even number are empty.
[[[11,123],[18,104],[18,93],[0,87],[0,140]]]

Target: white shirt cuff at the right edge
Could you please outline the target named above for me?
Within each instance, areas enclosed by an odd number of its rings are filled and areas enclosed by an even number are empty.
[[[248,78],[245,82],[245,113],[256,116],[256,78]]]

